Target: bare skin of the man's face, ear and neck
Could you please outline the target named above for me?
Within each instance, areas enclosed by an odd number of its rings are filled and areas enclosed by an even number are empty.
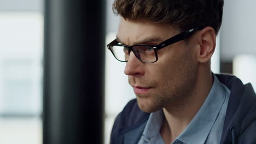
[[[181,31],[171,25],[121,17],[117,38],[125,45],[159,44],[178,33]],[[215,32],[206,27],[187,42],[182,40],[159,50],[155,63],[142,63],[130,53],[124,73],[142,111],[164,110],[160,133],[166,143],[182,133],[210,92],[210,59],[215,45]]]

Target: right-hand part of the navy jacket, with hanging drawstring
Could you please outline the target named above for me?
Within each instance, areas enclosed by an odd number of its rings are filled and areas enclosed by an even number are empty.
[[[243,85],[240,79],[232,75],[216,76],[230,89],[222,142],[232,141],[230,129],[233,127],[238,143],[256,143],[256,94],[251,83]]]

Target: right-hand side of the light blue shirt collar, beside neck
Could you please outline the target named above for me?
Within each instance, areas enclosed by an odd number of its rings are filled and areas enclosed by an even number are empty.
[[[205,143],[214,122],[226,99],[225,88],[213,74],[214,82],[210,93],[188,127],[177,137],[184,143]]]

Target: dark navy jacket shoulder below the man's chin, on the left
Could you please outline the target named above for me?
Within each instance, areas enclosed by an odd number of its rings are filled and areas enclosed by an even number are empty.
[[[123,111],[121,111],[115,119],[110,136],[110,143],[116,143],[115,141],[121,133],[139,127],[139,125],[147,121],[149,115],[149,113],[139,109],[136,99],[129,101]]]

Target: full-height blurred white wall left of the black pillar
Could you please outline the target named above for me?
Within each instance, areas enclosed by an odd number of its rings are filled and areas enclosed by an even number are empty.
[[[42,143],[43,0],[0,0],[0,143]]]

